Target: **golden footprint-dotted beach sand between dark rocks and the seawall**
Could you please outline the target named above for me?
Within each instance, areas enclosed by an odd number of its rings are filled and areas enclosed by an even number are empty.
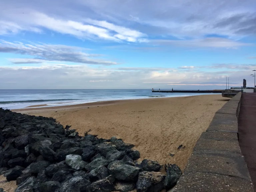
[[[199,95],[12,111],[54,117],[62,125],[77,129],[80,135],[91,129],[89,133],[98,137],[122,138],[125,143],[135,145],[134,149],[140,151],[140,159],[157,160],[160,164],[175,163],[184,170],[197,139],[226,102],[221,95]],[[185,148],[178,151],[181,144]]]

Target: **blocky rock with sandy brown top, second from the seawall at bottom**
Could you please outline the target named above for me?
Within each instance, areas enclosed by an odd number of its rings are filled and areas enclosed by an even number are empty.
[[[159,192],[164,187],[165,175],[160,172],[142,171],[136,183],[138,192]]]

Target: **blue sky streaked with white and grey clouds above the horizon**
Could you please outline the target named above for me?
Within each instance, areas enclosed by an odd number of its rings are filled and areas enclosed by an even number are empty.
[[[223,89],[256,70],[255,0],[0,1],[0,89]]]

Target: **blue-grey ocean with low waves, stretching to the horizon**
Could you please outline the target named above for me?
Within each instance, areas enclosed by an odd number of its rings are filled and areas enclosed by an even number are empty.
[[[150,89],[0,89],[0,107],[20,109],[31,105],[47,107],[74,105],[97,101],[183,97],[209,93],[152,93]]]

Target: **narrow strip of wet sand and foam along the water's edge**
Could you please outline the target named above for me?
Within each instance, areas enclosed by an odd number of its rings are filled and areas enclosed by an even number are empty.
[[[30,105],[24,108],[11,109],[14,112],[22,111],[31,111],[31,112],[40,112],[40,111],[51,111],[55,109],[59,110],[67,110],[67,109],[82,109],[82,108],[90,108],[90,107],[102,107],[107,105],[115,105],[118,103],[126,102],[126,101],[139,101],[139,100],[164,100],[170,98],[186,98],[186,97],[196,97],[196,96],[205,96],[205,95],[221,95],[221,94],[202,94],[202,95],[191,95],[191,96],[177,96],[177,97],[153,97],[153,98],[143,98],[143,99],[120,99],[120,100],[108,100],[108,101],[96,101],[96,102],[88,102],[88,103],[80,103],[80,104],[71,104],[71,105],[61,105],[61,106],[52,106],[49,104],[40,104],[40,105]],[[49,106],[49,107],[45,107]]]

